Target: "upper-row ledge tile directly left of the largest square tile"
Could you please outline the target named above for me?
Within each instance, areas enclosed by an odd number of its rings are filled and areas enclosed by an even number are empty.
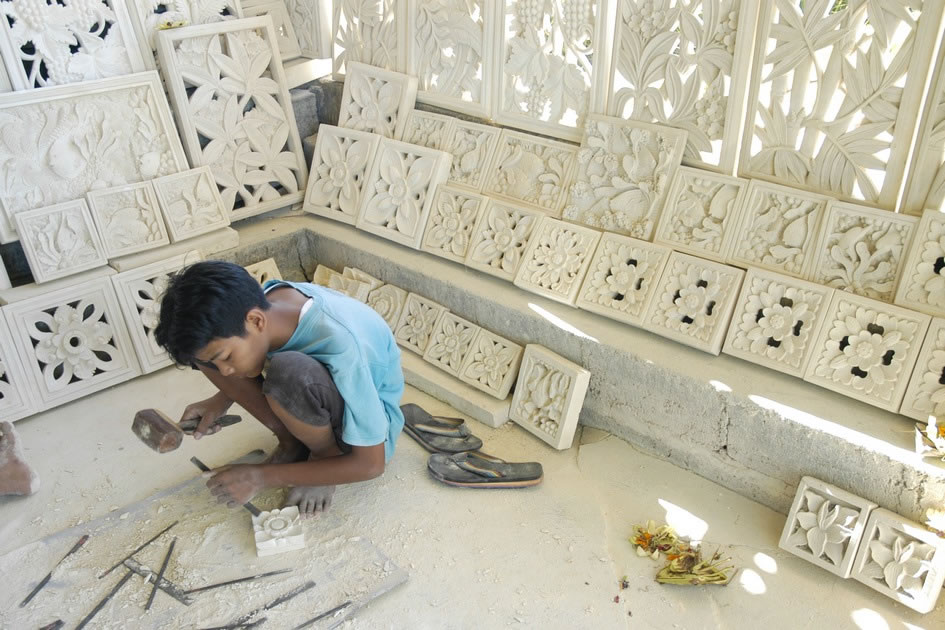
[[[483,191],[560,216],[577,151],[570,144],[503,129]]]

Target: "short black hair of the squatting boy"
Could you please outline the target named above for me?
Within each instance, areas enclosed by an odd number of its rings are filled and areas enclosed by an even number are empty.
[[[154,340],[179,365],[214,339],[246,336],[250,309],[269,309],[259,283],[239,265],[208,260],[171,275]]]

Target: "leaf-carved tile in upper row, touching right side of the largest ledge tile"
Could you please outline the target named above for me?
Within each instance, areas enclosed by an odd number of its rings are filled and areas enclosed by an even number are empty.
[[[738,233],[738,210],[748,181],[679,167],[666,197],[655,241],[709,260],[724,262]]]

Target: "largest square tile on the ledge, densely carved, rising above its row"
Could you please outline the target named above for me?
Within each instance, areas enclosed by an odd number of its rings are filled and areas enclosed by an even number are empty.
[[[564,218],[652,240],[686,147],[686,132],[588,116]]]

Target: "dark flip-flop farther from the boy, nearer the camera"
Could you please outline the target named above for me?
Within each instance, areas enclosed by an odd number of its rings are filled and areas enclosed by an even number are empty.
[[[437,481],[462,488],[527,488],[544,477],[538,462],[506,462],[485,453],[434,453],[427,469]]]

